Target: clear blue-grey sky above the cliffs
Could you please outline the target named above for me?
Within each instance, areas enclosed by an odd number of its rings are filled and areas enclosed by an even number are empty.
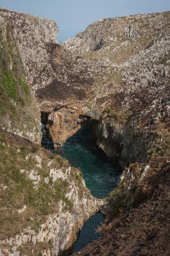
[[[0,7],[54,19],[63,42],[99,19],[170,11],[170,0],[0,0]]]

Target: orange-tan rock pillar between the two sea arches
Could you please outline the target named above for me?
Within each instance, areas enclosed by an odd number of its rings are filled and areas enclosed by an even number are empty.
[[[55,150],[61,149],[63,143],[83,126],[96,127],[99,119],[99,113],[96,110],[90,111],[88,108],[83,108],[81,102],[69,102],[64,106],[43,105],[41,111],[46,136],[53,141]]]

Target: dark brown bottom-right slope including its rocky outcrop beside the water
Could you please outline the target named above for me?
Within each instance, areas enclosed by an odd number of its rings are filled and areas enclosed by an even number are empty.
[[[117,193],[114,201],[114,218],[103,225],[102,237],[84,247],[81,256],[168,256],[170,251],[170,158],[159,158],[149,162],[154,168],[148,170],[141,180],[141,166],[131,165],[127,170],[133,178],[133,186],[127,189],[128,182],[122,181],[119,189],[126,196]],[[132,175],[133,174],[133,175]],[[140,185],[136,186],[136,177]],[[124,211],[122,198],[133,198],[129,211]],[[112,195],[113,196],[113,195]],[[115,204],[117,203],[117,204]],[[130,206],[130,205],[129,205]],[[119,212],[115,215],[116,211]]]

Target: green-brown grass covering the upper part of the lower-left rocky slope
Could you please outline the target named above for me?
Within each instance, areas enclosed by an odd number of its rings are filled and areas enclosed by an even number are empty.
[[[65,173],[69,167],[67,160],[53,154],[53,162],[48,166],[51,153],[45,154],[40,146],[21,140],[16,143],[9,135],[0,134],[0,239],[15,236],[28,226],[37,232],[49,214],[57,214],[61,201],[63,212],[71,210],[74,202],[66,196],[71,191],[71,182],[79,188],[80,198],[84,191],[90,194],[81,184],[82,173],[76,168],[71,169],[67,179],[53,180],[50,170],[62,168]],[[41,158],[42,168],[37,166],[36,156]],[[31,172],[37,179],[30,178]],[[24,206],[26,209],[19,213]]]

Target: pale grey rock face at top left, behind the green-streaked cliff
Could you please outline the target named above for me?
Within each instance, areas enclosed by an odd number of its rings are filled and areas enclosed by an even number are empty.
[[[50,74],[53,68],[48,51],[54,51],[57,47],[59,29],[56,22],[6,9],[0,11],[3,22],[11,27],[32,89],[45,87],[52,81]]]

